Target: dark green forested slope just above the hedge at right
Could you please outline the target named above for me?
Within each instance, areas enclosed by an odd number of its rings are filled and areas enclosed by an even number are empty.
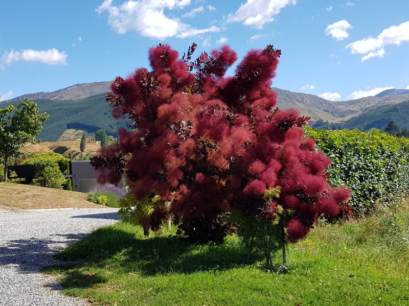
[[[394,121],[399,129],[409,130],[409,101],[378,106],[343,123],[330,123],[320,126],[320,128],[328,130],[359,129],[368,131],[372,128],[383,130],[391,121]]]

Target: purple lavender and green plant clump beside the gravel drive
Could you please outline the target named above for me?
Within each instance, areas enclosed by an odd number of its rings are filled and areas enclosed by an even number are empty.
[[[89,189],[89,202],[106,205],[109,207],[119,207],[118,201],[126,194],[126,190],[113,185],[97,185]]]

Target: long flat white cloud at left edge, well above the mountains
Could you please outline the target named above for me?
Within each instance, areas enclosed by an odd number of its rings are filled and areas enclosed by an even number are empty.
[[[33,49],[14,51],[14,49],[12,49],[10,52],[6,51],[2,57],[2,60],[8,65],[16,61],[40,62],[47,65],[65,65],[66,59],[67,54],[65,52],[59,52],[55,48],[43,51]]]

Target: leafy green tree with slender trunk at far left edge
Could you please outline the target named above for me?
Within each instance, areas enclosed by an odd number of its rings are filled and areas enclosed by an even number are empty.
[[[26,143],[38,143],[36,138],[47,113],[39,113],[37,104],[26,98],[16,106],[0,108],[0,157],[4,162],[4,181],[7,181],[9,157],[20,154],[19,149]]]

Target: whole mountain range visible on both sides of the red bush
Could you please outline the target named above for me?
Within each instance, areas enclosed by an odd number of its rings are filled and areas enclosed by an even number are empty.
[[[110,83],[83,83],[53,92],[28,93],[0,102],[0,107],[16,104],[26,97],[35,101],[41,112],[50,114],[39,135],[43,141],[56,141],[66,129],[79,129],[89,133],[105,129],[108,134],[116,136],[118,128],[128,127],[130,121],[112,118],[109,105],[105,102]],[[409,129],[407,89],[389,89],[375,97],[349,101],[328,101],[314,95],[275,87],[272,90],[277,93],[279,108],[298,109],[302,115],[311,117],[310,124],[314,127],[383,129],[390,121],[395,121],[401,129]]]

